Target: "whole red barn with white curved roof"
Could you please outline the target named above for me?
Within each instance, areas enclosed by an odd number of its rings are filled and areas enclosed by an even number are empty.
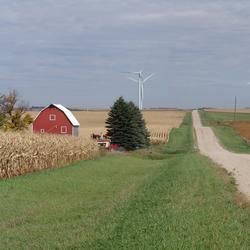
[[[44,108],[33,123],[34,133],[50,133],[78,136],[80,124],[70,110],[61,104]]]

